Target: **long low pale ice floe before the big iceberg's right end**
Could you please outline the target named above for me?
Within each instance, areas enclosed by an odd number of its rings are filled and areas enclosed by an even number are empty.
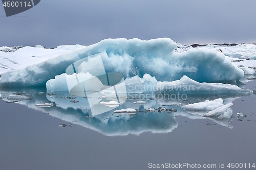
[[[199,83],[183,76],[180,80],[173,82],[158,82],[157,92],[180,92],[186,94],[240,94],[250,93],[249,89],[242,89],[236,85],[223,83]]]

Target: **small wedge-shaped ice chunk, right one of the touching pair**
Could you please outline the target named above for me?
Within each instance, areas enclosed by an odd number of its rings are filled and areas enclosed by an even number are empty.
[[[232,115],[232,110],[230,109],[230,106],[232,106],[232,103],[228,103],[226,105],[223,105],[215,110],[211,110],[208,113],[205,114],[205,116],[209,117],[219,117],[219,118],[230,118]]]

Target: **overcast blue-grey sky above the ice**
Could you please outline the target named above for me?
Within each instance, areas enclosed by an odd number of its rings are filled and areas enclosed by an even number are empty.
[[[106,38],[168,37],[182,44],[256,43],[254,0],[41,0],[6,17],[0,46],[90,45]]]

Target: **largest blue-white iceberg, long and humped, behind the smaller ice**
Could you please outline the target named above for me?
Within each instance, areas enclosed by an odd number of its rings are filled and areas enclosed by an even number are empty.
[[[27,48],[30,51],[31,47],[24,47],[11,54],[21,53],[27,56],[24,54]],[[148,74],[155,77],[157,81],[175,81],[186,75],[197,82],[209,83],[236,81],[244,77],[243,70],[234,65],[229,57],[216,50],[198,48],[176,53],[175,48],[177,44],[169,38],[148,41],[137,38],[105,39],[90,46],[79,46],[71,50],[66,50],[65,47],[54,50],[36,48],[41,53],[45,50],[48,53],[43,57],[37,56],[38,54],[31,57],[34,53],[30,53],[25,59],[30,61],[31,58],[36,58],[37,60],[31,59],[29,65],[24,61],[17,62],[23,66],[2,72],[0,85],[46,86],[48,80],[65,74],[70,65],[85,58],[89,59],[77,65],[76,74],[86,73],[85,71],[90,73],[102,62],[106,73],[118,72],[123,75],[124,79],[134,76],[141,78]],[[55,53],[57,51],[58,54]],[[99,55],[100,59],[90,58],[93,55]],[[8,66],[9,62],[4,60],[1,63]]]

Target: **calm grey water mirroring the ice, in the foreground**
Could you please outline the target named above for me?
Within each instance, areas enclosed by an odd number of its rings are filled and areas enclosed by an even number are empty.
[[[245,88],[256,90],[256,81]],[[136,114],[111,110],[94,116],[86,98],[45,89],[0,91],[0,169],[226,169],[229,163],[245,169],[256,163],[253,93],[223,99],[232,101],[233,117],[214,119],[187,113],[177,101],[148,98],[135,105],[133,99],[119,108],[135,108]],[[36,106],[44,103],[54,105]],[[247,116],[239,118],[239,112]]]

